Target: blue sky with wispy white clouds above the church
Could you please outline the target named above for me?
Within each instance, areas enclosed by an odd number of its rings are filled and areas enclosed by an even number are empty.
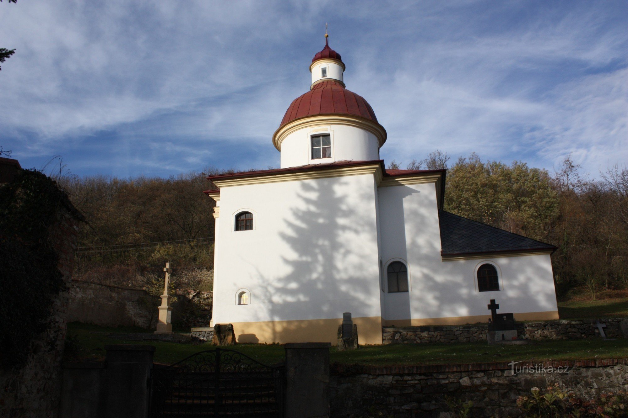
[[[325,22],[387,162],[628,163],[623,0],[3,2],[0,146],[78,175],[278,166]]]

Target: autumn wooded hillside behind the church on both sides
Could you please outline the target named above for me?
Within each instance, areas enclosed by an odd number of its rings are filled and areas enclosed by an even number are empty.
[[[560,293],[586,286],[595,297],[602,289],[628,288],[628,169],[615,166],[589,180],[571,159],[553,174],[520,161],[482,161],[477,154],[448,167],[449,160],[435,151],[408,168],[448,168],[445,210],[556,245]],[[389,168],[399,166],[393,161]],[[138,286],[132,282],[137,272],[154,271],[151,282],[158,281],[166,260],[211,269],[213,201],[202,193],[209,173],[219,170],[60,179],[89,222],[80,232],[75,277]]]

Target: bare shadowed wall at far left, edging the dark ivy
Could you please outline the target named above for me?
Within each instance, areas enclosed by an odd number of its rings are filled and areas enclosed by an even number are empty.
[[[59,256],[58,269],[66,286],[72,281],[77,244],[78,215],[57,213],[49,239]],[[35,291],[35,290],[34,290]],[[61,391],[61,360],[67,331],[68,292],[53,303],[48,329],[33,341],[26,365],[18,371],[0,371],[0,416],[8,418],[57,417]]]

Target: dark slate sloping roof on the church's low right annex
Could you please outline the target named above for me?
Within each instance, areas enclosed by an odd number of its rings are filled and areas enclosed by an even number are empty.
[[[438,211],[438,217],[441,255],[556,249],[553,245],[459,217],[444,210]]]

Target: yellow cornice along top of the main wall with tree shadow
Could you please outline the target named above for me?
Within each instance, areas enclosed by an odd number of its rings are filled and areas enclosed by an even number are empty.
[[[341,176],[359,176],[361,174],[380,173],[381,165],[379,163],[368,164],[364,166],[330,166],[328,169],[312,169],[310,171],[297,171],[285,174],[273,174],[272,176],[258,176],[247,178],[234,178],[224,180],[212,180],[216,186],[220,188],[229,186],[258,185],[262,183],[278,183],[280,181],[309,180],[314,178],[328,178]]]

